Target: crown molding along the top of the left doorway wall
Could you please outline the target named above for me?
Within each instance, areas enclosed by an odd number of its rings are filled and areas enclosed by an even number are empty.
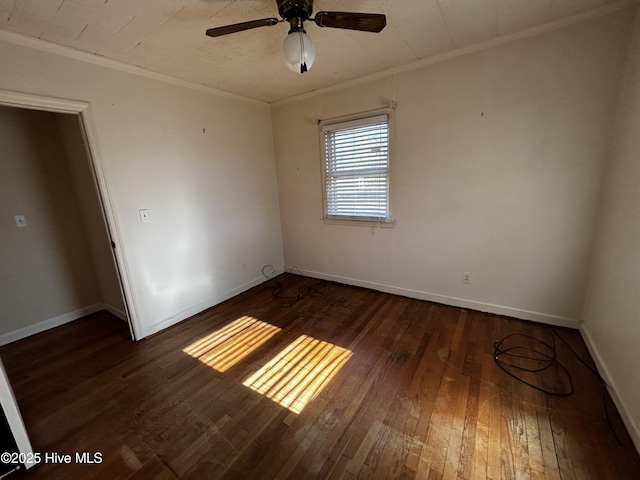
[[[142,67],[129,65],[123,62],[119,62],[117,60],[112,60],[107,57],[102,57],[100,55],[96,55],[93,53],[85,52],[83,50],[78,50],[76,48],[68,47],[66,45],[60,45],[58,43],[48,42],[40,38],[30,37],[28,35],[11,32],[9,30],[4,30],[1,28],[0,28],[0,40],[4,40],[6,42],[20,45],[23,47],[32,48],[34,50],[39,50],[41,52],[60,55],[62,57],[71,58],[73,60],[92,63],[94,65],[98,65],[101,67],[118,70],[118,71],[129,73],[132,75],[146,77],[151,80],[157,80],[160,82],[169,83],[177,87],[189,88],[191,90],[207,93],[209,95],[229,98],[232,100],[239,100],[242,102],[251,103],[253,105],[260,105],[260,106],[269,105],[267,102],[264,102],[262,100],[245,97],[235,93],[226,92],[224,90],[218,90],[217,88],[208,87],[206,85],[192,83],[187,80],[182,80],[176,77],[172,77],[170,75],[166,75],[164,73],[153,72],[151,70],[147,70]]]

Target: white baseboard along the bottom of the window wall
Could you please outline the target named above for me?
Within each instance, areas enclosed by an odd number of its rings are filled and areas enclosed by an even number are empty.
[[[287,270],[289,270],[289,268],[287,268]],[[370,288],[371,290],[377,290],[379,292],[385,292],[385,293],[392,293],[394,295],[401,295],[403,297],[415,298],[417,300],[427,300],[429,302],[442,303],[445,305],[450,305],[452,307],[468,308],[470,310],[494,313],[496,315],[505,315],[508,317],[519,318],[521,320],[530,320],[533,322],[546,323],[546,324],[555,325],[558,327],[568,327],[568,328],[575,328],[575,329],[580,327],[580,320],[575,318],[561,317],[558,315],[550,315],[547,313],[540,313],[540,312],[532,312],[529,310],[506,307],[503,305],[494,305],[491,303],[478,302],[475,300],[467,300],[464,298],[450,297],[447,295],[423,292],[420,290],[394,287],[391,285],[368,282],[365,280],[358,280],[358,279],[349,278],[349,277],[341,277],[338,275],[328,275],[325,273],[302,270],[299,268],[296,268],[296,271],[300,272],[303,275],[313,277],[313,278],[320,278],[320,279],[329,280],[332,282],[345,283],[347,285],[354,285],[357,287]]]

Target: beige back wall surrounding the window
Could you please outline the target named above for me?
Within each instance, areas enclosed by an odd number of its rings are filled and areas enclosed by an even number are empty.
[[[577,327],[630,17],[274,107],[285,265]],[[314,119],[392,99],[395,227],[324,224]]]

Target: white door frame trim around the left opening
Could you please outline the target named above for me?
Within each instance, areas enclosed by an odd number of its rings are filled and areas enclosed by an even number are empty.
[[[40,110],[53,113],[66,113],[77,115],[79,119],[80,131],[83,135],[89,167],[92,172],[94,187],[98,195],[98,200],[102,210],[102,220],[105,225],[107,235],[111,241],[113,262],[116,268],[122,300],[125,307],[125,315],[133,340],[143,338],[141,334],[138,316],[133,302],[131,282],[127,270],[127,262],[123,251],[121,235],[115,221],[114,208],[109,194],[109,185],[106,180],[104,167],[100,159],[98,137],[91,105],[88,102],[68,100],[41,95],[13,92],[0,89],[0,105],[6,107],[23,108],[29,110]]]

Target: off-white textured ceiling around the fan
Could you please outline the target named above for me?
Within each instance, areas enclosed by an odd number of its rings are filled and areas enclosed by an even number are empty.
[[[307,33],[316,61],[288,70],[280,23],[209,38],[210,27],[278,17],[275,0],[0,0],[0,29],[266,102],[402,68],[608,4],[637,0],[316,0],[314,11],[384,13],[378,34]]]

